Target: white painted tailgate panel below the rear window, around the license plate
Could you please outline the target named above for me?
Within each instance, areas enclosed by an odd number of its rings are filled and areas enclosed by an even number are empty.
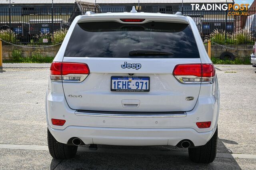
[[[181,84],[172,75],[176,64],[200,63],[200,59],[102,59],[64,57],[65,62],[86,63],[90,74],[80,83],[63,83],[68,105],[72,109],[98,111],[189,111],[193,109],[200,84]],[[140,63],[139,70],[121,68],[121,64]],[[111,76],[149,76],[150,92],[112,92]],[[72,98],[69,95],[81,95]],[[186,97],[194,100],[188,101]],[[125,108],[124,100],[139,101],[137,108]],[[123,103],[122,103],[123,101]]]

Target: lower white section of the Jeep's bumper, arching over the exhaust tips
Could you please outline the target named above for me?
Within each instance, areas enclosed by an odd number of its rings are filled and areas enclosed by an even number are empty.
[[[189,139],[195,146],[205,145],[216,128],[208,132],[198,133],[192,128],[172,129],[136,129],[69,126],[64,130],[53,129],[48,125],[52,135],[61,143],[68,143],[72,137],[80,138],[85,144],[176,146],[181,140]]]

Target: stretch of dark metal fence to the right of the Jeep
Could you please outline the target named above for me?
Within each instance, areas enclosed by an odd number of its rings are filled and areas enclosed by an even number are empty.
[[[233,15],[232,15],[233,14]],[[245,14],[245,15],[241,15]],[[254,44],[256,41],[256,11],[185,11],[195,21],[203,40],[218,44]]]

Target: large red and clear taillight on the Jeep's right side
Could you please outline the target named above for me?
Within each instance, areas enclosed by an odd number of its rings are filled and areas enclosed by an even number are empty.
[[[215,69],[213,64],[178,64],[172,74],[186,84],[211,84],[214,82]]]

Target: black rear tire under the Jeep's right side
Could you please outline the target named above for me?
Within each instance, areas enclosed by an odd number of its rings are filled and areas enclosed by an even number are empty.
[[[197,148],[189,148],[188,155],[190,160],[196,163],[211,163],[214,161],[217,153],[218,127],[210,141]]]

